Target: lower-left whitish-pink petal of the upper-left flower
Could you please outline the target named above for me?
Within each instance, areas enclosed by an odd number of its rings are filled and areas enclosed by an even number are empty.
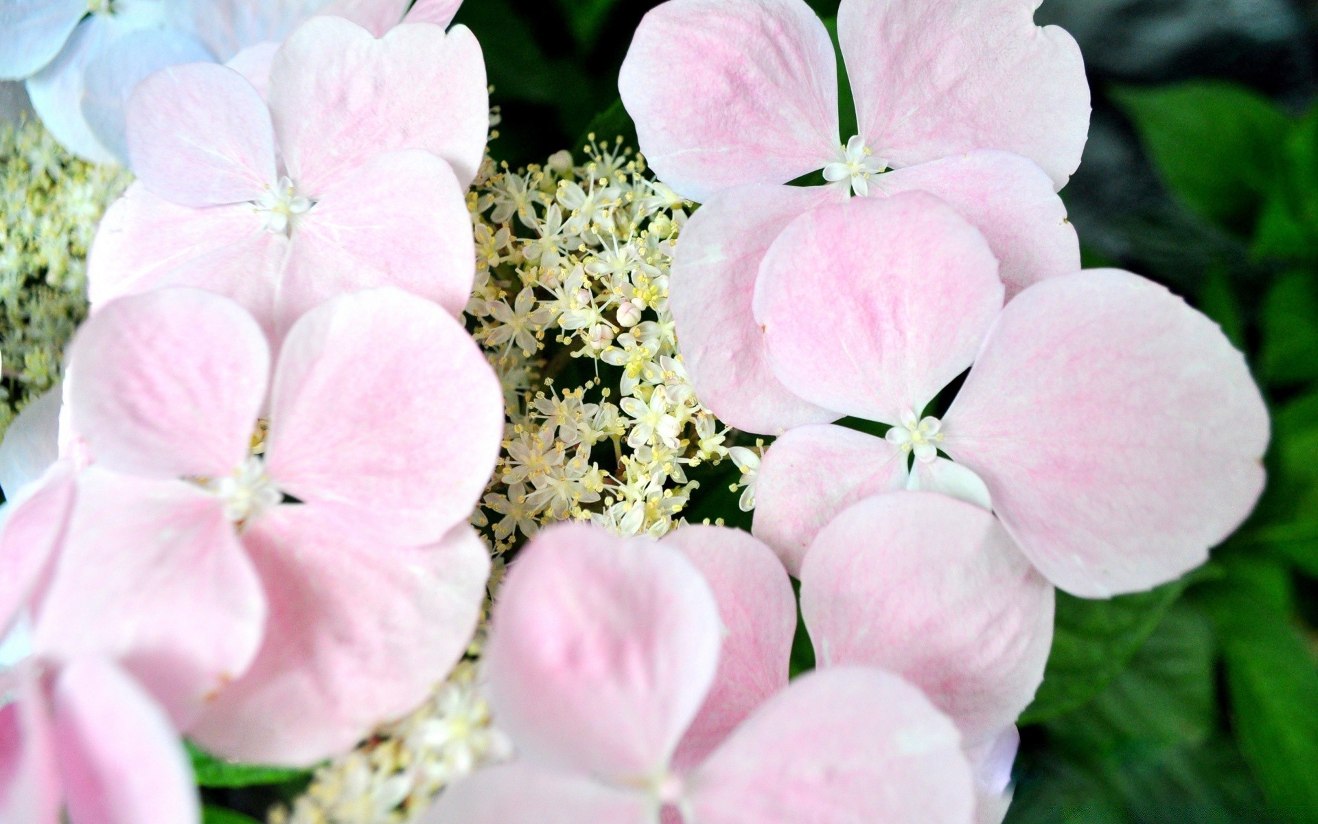
[[[289,239],[261,227],[250,206],[188,208],[134,183],[105,211],[92,243],[92,307],[159,286],[196,286],[233,298],[269,328]]]

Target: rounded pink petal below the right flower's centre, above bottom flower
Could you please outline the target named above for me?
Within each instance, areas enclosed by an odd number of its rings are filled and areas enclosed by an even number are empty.
[[[801,616],[821,666],[902,675],[974,746],[1035,697],[1053,641],[1053,588],[991,513],[894,492],[850,506],[815,538]]]

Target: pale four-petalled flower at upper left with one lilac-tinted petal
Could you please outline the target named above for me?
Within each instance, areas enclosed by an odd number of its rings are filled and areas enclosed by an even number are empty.
[[[198,286],[278,336],[328,298],[390,285],[461,312],[476,270],[463,192],[489,128],[474,36],[405,24],[377,40],[316,17],[274,55],[268,95],[210,63],[137,87],[140,179],[94,243],[94,310]]]

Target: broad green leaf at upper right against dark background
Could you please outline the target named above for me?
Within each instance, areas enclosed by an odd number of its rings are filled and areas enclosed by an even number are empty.
[[[1275,103],[1215,80],[1119,87],[1111,98],[1174,196],[1202,218],[1252,231],[1292,127]]]

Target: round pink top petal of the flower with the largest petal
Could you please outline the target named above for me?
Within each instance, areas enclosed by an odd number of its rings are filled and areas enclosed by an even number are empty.
[[[759,272],[755,319],[774,374],[838,415],[884,423],[919,415],[963,372],[1002,309],[983,236],[924,192],[803,215]]]

